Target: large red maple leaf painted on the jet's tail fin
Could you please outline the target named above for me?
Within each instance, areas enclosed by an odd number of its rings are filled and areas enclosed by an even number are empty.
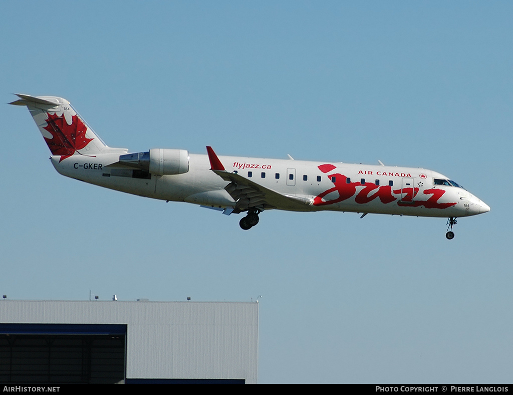
[[[71,124],[68,125],[64,114],[47,114],[48,124],[44,129],[50,132],[52,138],[45,137],[45,140],[53,155],[61,155],[59,162],[69,158],[77,150],[82,150],[93,140],[86,137],[87,126],[76,115],[71,116]]]

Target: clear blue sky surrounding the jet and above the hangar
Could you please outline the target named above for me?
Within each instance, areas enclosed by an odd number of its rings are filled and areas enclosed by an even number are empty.
[[[0,106],[0,293],[260,302],[260,383],[504,383],[513,362],[510,2],[3,2],[0,98],[69,99],[111,147],[441,172],[445,219],[164,203],[58,175]]]

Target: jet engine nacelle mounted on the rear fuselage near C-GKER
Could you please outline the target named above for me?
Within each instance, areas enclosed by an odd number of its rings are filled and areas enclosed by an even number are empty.
[[[120,155],[121,164],[160,176],[189,171],[189,151],[153,148],[146,152]]]

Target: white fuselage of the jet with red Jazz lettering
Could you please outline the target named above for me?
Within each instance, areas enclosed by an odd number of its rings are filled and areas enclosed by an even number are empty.
[[[144,178],[131,168],[116,166],[119,158],[119,154],[75,154],[64,160],[58,155],[51,159],[65,176],[117,191],[212,207],[236,205],[224,189],[229,182],[212,172],[207,155],[190,154],[189,170],[184,174]],[[306,202],[300,207],[275,207],[279,210],[425,217],[463,217],[490,210],[447,177],[421,168],[232,156],[219,159],[229,173]]]

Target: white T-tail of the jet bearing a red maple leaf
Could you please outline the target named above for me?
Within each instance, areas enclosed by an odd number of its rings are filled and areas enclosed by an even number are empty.
[[[96,156],[113,152],[126,153],[123,148],[110,148],[73,109],[70,102],[56,96],[16,94],[12,105],[27,106],[52,155],[59,162],[72,155]]]

